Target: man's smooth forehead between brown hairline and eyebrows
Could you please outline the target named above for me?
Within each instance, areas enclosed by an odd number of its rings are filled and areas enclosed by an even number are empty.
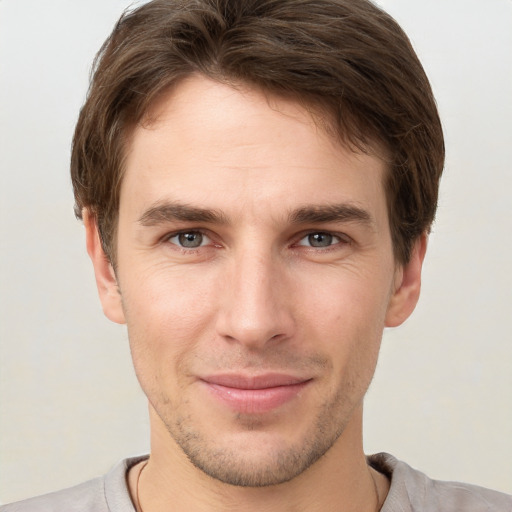
[[[120,212],[175,200],[228,215],[351,202],[385,216],[384,173],[379,157],[341,145],[298,102],[192,76],[133,130]]]

